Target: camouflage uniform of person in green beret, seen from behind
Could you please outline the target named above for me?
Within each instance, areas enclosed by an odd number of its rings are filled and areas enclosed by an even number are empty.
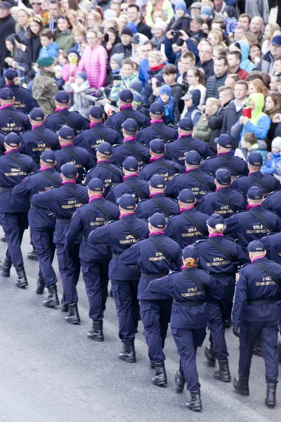
[[[32,84],[32,95],[46,116],[55,113],[53,97],[58,93],[58,85],[53,79],[53,75],[53,72],[41,69],[40,75],[34,79]]]

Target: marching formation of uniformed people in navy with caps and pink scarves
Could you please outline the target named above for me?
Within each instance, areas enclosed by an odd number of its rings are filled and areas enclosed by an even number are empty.
[[[22,88],[22,90],[24,90]],[[27,91],[27,90],[24,90]],[[251,357],[266,366],[266,406],[275,406],[281,320],[280,183],[262,174],[261,153],[247,162],[222,134],[214,149],[193,136],[190,117],[178,129],[163,123],[152,103],[150,119],[133,110],[129,89],[120,111],[108,117],[93,106],[89,120],[67,110],[69,94],[55,95],[55,113],[15,108],[10,88],[0,90],[0,222],[7,242],[1,276],[15,267],[28,285],[20,248],[30,227],[39,262],[37,294],[44,307],[60,306],[79,324],[77,282],[82,273],[92,325],[89,339],[106,341],[110,280],[122,350],[135,363],[141,317],[152,383],[166,385],[164,344],[171,326],[180,365],[176,391],[185,384],[188,409],[202,410],[197,347],[209,328],[204,356],[218,362],[214,378],[230,382],[225,329],[240,340],[233,386],[249,395]],[[215,151],[216,149],[216,151]],[[58,298],[58,258],[63,298]],[[279,343],[281,362],[281,343]]]

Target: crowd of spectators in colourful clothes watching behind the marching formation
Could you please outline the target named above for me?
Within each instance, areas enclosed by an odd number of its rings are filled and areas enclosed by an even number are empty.
[[[230,134],[235,154],[259,149],[263,172],[281,174],[281,30],[268,16],[267,0],[2,1],[0,87],[15,68],[12,83],[32,91],[53,58],[48,76],[84,117],[93,102],[81,94],[106,87],[103,105],[118,108],[131,89],[148,117],[161,103],[164,124],[191,117],[211,148]]]

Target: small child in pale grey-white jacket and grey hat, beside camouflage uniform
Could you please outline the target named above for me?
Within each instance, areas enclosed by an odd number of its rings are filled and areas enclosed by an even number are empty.
[[[65,91],[74,93],[73,106],[70,108],[70,111],[78,111],[82,116],[89,117],[92,102],[81,96],[81,94],[86,94],[89,88],[90,84],[87,80],[86,72],[78,72],[74,82],[65,83]]]

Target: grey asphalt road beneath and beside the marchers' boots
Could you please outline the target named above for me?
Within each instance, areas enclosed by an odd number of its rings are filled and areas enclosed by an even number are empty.
[[[5,250],[0,242],[0,259]],[[15,287],[14,269],[10,279],[0,277],[0,422],[280,422],[280,389],[275,409],[264,404],[263,359],[253,357],[250,396],[241,397],[232,383],[214,380],[214,369],[203,356],[204,345],[197,356],[203,411],[195,414],[186,409],[189,393],[176,394],[174,390],[178,356],[171,334],[165,347],[169,384],[161,388],[151,383],[153,371],[142,326],[136,336],[136,364],[117,359],[121,343],[112,298],[108,298],[105,311],[104,343],[86,338],[91,320],[82,279],[78,284],[79,326],[67,324],[60,307],[41,305],[47,293],[34,293],[38,264],[26,259],[30,250],[26,232],[22,252],[28,288]],[[58,290],[61,295],[60,282]],[[227,343],[234,377],[238,340],[230,329]]]

